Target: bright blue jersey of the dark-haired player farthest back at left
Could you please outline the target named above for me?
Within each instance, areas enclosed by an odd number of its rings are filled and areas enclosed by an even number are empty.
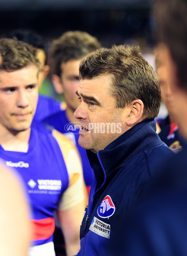
[[[60,111],[60,101],[54,98],[47,97],[39,94],[38,103],[36,107],[36,112],[33,117],[33,122],[40,122],[44,120],[47,116],[53,115]]]

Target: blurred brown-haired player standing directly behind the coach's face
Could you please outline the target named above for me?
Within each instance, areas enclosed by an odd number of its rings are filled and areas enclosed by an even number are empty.
[[[83,165],[83,174],[87,191],[93,180],[86,152],[79,146],[79,125],[74,111],[79,106],[75,91],[79,85],[79,63],[86,54],[101,47],[97,38],[83,31],[68,31],[52,42],[52,82],[58,94],[65,100],[64,110],[44,120],[45,123],[70,138],[77,146]],[[69,125],[70,126],[67,126]],[[77,125],[77,126],[76,126]]]

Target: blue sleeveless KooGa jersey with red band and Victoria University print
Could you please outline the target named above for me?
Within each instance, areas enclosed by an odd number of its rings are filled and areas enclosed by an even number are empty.
[[[54,211],[69,184],[58,142],[50,131],[31,128],[26,153],[6,151],[0,146],[0,157],[7,166],[15,167],[25,182],[32,213],[32,245],[53,241]]]

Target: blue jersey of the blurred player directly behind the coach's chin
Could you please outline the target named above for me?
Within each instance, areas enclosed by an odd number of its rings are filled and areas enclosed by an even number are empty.
[[[70,123],[66,116],[65,110],[60,111],[56,113],[55,115],[49,116],[44,120],[44,123],[48,124],[49,126],[52,126],[56,130],[60,131],[63,135],[67,136],[74,145],[77,146],[77,149],[79,150],[79,155],[82,160],[82,166],[83,166],[83,175],[84,175],[84,181],[87,187],[87,190],[89,192],[90,186],[92,184],[93,175],[91,171],[91,167],[89,164],[88,157],[86,155],[86,150],[83,149],[79,145],[79,125],[74,126],[73,123]],[[70,124],[67,126],[67,124]],[[77,124],[79,124],[77,122]]]

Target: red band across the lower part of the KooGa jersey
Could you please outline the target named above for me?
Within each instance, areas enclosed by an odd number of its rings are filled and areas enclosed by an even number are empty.
[[[31,226],[31,241],[48,239],[55,231],[55,221],[53,218],[31,219]]]

